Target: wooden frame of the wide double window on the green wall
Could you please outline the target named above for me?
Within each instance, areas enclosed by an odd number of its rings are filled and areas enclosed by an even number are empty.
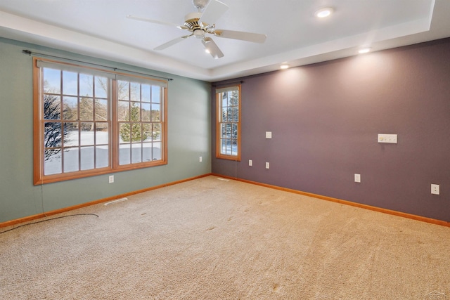
[[[60,65],[60,70],[65,70],[66,67],[81,69],[85,74],[96,74],[101,72],[102,74],[108,74],[110,78],[110,94],[108,103],[108,167],[100,167],[96,169],[68,171],[64,173],[63,169],[61,173],[44,175],[44,119],[43,103],[44,103],[44,91],[42,82],[42,70],[43,67],[39,66],[40,63]],[[120,76],[126,78],[129,81],[147,82],[152,86],[160,86],[161,103],[160,103],[160,159],[151,160],[148,162],[130,162],[129,164],[119,164],[119,147],[120,137],[118,129],[118,117],[117,117],[117,79],[115,77]],[[61,84],[63,79],[60,79]],[[60,91],[61,99],[63,98],[63,91]],[[78,95],[78,97],[82,97]],[[62,103],[63,100],[61,100]],[[97,176],[102,174],[115,173],[117,171],[129,171],[134,169],[142,169],[147,167],[155,167],[163,164],[167,164],[167,81],[161,79],[153,79],[151,77],[138,76],[134,74],[126,74],[121,72],[114,72],[110,70],[103,70],[96,67],[90,67],[85,65],[75,65],[73,63],[66,63],[59,60],[50,60],[46,58],[33,58],[33,183],[34,185],[41,185],[44,183],[53,183],[58,181],[66,181],[75,178],[84,178],[89,176]],[[63,115],[62,113],[60,115]],[[61,116],[61,122],[65,120]],[[79,121],[79,120],[78,120]],[[141,121],[142,122],[142,121]],[[94,146],[96,146],[94,142]],[[80,146],[81,148],[81,146]],[[64,148],[62,148],[64,149]],[[95,159],[95,158],[94,158]],[[63,164],[63,162],[61,162]],[[81,162],[79,162],[81,164]],[[81,168],[80,168],[81,169]]]

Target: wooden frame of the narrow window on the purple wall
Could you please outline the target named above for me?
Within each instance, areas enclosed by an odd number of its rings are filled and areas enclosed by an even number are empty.
[[[236,88],[236,89],[235,89]],[[221,93],[224,91],[238,91],[238,122],[222,122],[222,110],[221,110]],[[216,89],[216,158],[219,159],[229,159],[233,161],[240,162],[240,153],[241,153],[241,144],[240,144],[240,123],[241,123],[241,93],[240,93],[240,84],[233,86],[225,86],[222,88]],[[237,154],[236,155],[227,155],[221,152],[221,140],[224,139],[221,134],[221,125],[231,123],[236,124],[237,126]],[[225,138],[226,139],[226,138]]]

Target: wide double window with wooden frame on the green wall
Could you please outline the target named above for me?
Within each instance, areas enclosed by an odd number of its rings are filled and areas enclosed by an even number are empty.
[[[167,82],[34,58],[34,184],[167,164]]]

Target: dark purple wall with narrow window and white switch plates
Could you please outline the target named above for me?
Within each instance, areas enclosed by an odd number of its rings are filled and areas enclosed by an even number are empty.
[[[236,80],[242,160],[213,173],[450,221],[450,39]]]

